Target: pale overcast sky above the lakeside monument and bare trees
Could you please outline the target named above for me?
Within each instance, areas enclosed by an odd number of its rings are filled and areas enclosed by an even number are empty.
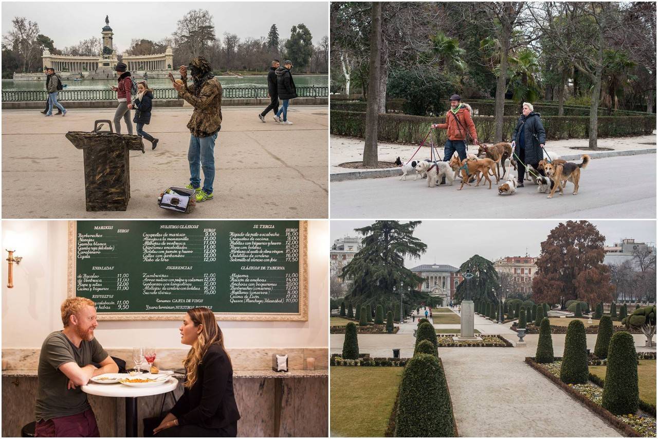
[[[2,34],[12,28],[14,16],[24,16],[39,24],[41,34],[55,41],[55,47],[78,44],[80,40],[101,38],[105,15],[109,15],[114,44],[122,53],[132,38],[158,41],[171,36],[176,22],[191,9],[207,9],[215,22],[215,36],[224,32],[240,39],[266,37],[276,24],[279,38],[290,38],[290,28],[303,23],[313,35],[313,43],[328,36],[328,3],[310,2],[3,2]],[[140,16],[135,16],[138,13]]]

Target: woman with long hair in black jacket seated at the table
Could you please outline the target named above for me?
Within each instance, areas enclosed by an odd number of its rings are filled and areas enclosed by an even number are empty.
[[[188,310],[180,336],[181,343],[191,345],[183,361],[184,393],[153,433],[157,437],[236,437],[240,413],[233,393],[233,366],[213,311]]]

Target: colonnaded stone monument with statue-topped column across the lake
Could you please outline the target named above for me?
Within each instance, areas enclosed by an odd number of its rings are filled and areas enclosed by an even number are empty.
[[[101,30],[103,48],[96,56],[74,57],[68,55],[53,55],[48,49],[43,51],[41,61],[43,67],[53,67],[58,72],[113,73],[119,62],[116,51],[113,49],[114,32],[110,27],[110,20],[105,16],[105,26]],[[157,55],[123,55],[121,62],[128,65],[128,71],[168,71],[174,65],[174,52],[167,47],[164,53]]]

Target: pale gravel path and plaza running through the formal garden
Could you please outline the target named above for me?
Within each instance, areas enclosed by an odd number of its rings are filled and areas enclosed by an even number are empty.
[[[416,326],[403,324],[393,335],[359,334],[359,351],[371,357],[392,357],[392,349],[400,348],[402,357],[412,357]],[[455,328],[459,333],[459,325],[434,326]],[[474,328],[482,334],[501,334],[516,343],[519,337],[510,326],[474,316]],[[596,337],[587,335],[588,348],[594,349]],[[331,334],[332,354],[342,352],[343,338],[343,334]],[[525,357],[534,357],[538,338],[538,334],[524,337],[525,347],[439,348],[459,435],[619,437],[617,430],[524,363]],[[655,347],[644,347],[643,335],[634,334],[633,338],[638,351],[655,352]],[[552,339],[555,356],[563,355],[565,334],[553,334]]]

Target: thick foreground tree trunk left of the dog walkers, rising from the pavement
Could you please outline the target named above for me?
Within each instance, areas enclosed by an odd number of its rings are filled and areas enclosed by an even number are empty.
[[[382,3],[372,2],[370,9],[370,77],[366,105],[366,142],[363,148],[363,165],[377,167],[378,98],[382,46]]]

